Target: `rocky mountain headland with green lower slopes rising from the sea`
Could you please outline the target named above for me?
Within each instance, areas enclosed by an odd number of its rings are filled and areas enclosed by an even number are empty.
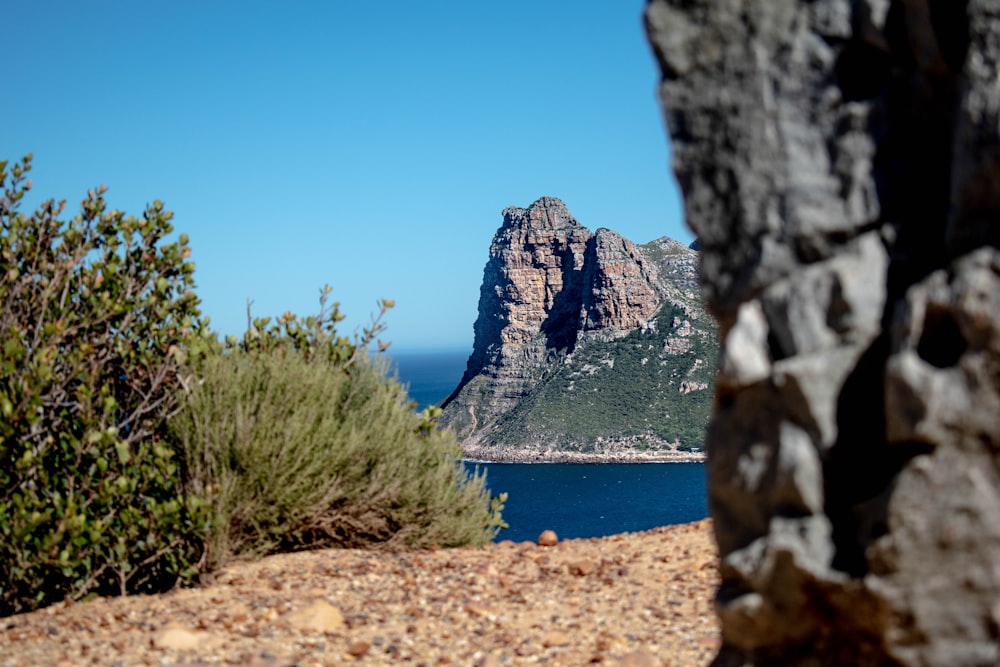
[[[715,346],[696,257],[667,238],[639,246],[591,232],[553,197],[504,210],[474,349],[443,404],[466,455],[690,458],[676,449],[701,446]]]

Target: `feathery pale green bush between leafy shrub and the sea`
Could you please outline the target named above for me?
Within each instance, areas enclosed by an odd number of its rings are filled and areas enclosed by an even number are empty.
[[[210,568],[324,546],[483,544],[502,523],[502,498],[466,473],[451,433],[369,358],[391,302],[353,344],[328,292],[318,317],[255,320],[205,359],[170,422],[188,492],[212,517]]]

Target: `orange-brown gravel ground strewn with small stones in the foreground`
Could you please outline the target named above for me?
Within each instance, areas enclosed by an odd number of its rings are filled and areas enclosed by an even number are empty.
[[[0,619],[0,665],[706,665],[708,520],[554,546],[272,556]]]

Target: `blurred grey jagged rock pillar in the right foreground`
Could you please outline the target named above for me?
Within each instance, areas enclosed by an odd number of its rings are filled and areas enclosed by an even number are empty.
[[[716,665],[1000,664],[1000,3],[653,0]]]

